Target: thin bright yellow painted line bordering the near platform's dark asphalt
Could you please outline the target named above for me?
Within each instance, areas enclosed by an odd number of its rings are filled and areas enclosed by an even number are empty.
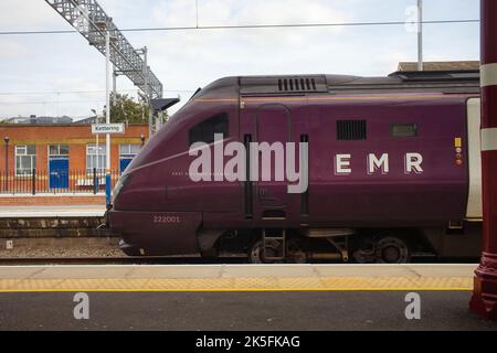
[[[306,292],[306,291],[472,291],[469,287],[350,287],[350,288],[41,288],[0,289],[0,293],[20,292]]]

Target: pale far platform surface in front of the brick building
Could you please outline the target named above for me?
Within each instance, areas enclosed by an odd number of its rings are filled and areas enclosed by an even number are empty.
[[[103,217],[105,205],[0,206],[0,218]]]

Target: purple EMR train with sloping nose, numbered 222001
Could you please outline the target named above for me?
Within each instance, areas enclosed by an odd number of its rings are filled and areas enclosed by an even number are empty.
[[[479,104],[474,71],[222,78],[133,160],[108,224],[133,256],[477,256]]]

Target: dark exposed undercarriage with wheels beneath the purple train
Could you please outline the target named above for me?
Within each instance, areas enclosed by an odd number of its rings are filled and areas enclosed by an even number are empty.
[[[477,257],[479,224],[458,228],[240,229],[215,232],[204,257],[245,254],[252,264],[406,264],[415,257]],[[213,234],[213,233],[211,233]],[[202,234],[199,237],[202,239]],[[202,240],[200,240],[202,243]],[[475,244],[477,244],[475,246]],[[200,245],[202,249],[202,244]]]

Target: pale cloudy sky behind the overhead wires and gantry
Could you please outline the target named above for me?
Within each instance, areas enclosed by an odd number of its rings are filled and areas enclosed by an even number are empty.
[[[119,29],[194,26],[195,0],[97,0]],[[406,21],[416,0],[197,0],[199,25]],[[424,0],[424,20],[479,19],[478,0]],[[0,32],[71,30],[44,0],[1,0]],[[126,32],[166,97],[186,103],[198,87],[233,75],[383,76],[416,61],[404,25]],[[424,58],[479,58],[478,23],[425,24]],[[136,96],[124,76],[118,92]],[[170,110],[175,113],[181,104]],[[0,35],[0,118],[84,118],[105,105],[105,60],[78,33]]]

